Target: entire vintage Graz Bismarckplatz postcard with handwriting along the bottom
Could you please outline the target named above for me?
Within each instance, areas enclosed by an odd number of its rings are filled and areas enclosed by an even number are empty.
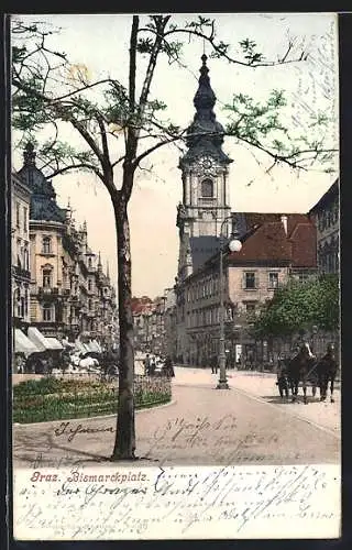
[[[11,15],[15,539],[341,536],[337,26]]]

